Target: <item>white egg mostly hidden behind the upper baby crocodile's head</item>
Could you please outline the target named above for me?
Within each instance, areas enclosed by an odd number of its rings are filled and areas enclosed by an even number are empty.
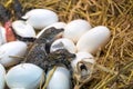
[[[42,29],[38,34],[37,34],[37,38],[39,38],[47,29],[51,28],[51,27],[54,27],[55,29],[64,29],[66,26],[66,23],[64,22],[55,22],[55,23],[52,23],[48,27],[45,27],[44,29]]]

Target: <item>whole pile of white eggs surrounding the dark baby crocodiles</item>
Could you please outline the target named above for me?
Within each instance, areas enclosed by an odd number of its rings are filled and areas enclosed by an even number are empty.
[[[94,63],[94,55],[103,48],[110,40],[110,30],[104,26],[92,28],[83,19],[72,20],[69,23],[60,22],[58,14],[47,9],[33,9],[27,12],[23,20],[12,22],[12,28],[17,34],[27,38],[39,38],[48,28],[64,29],[62,38],[57,39],[50,47],[50,52],[58,49],[66,49],[75,53],[75,59],[71,61],[73,72],[78,72],[78,63],[85,61]],[[37,34],[35,31],[40,30]],[[7,42],[6,31],[0,27],[0,89],[7,86],[10,89],[38,89],[45,81],[45,73],[40,67],[33,63],[20,63],[28,50],[28,43],[20,41]],[[82,65],[79,65],[82,66]],[[6,68],[10,68],[6,70]],[[82,75],[89,73],[81,71]],[[58,67],[47,87],[47,89],[71,89],[71,73],[64,67]]]

